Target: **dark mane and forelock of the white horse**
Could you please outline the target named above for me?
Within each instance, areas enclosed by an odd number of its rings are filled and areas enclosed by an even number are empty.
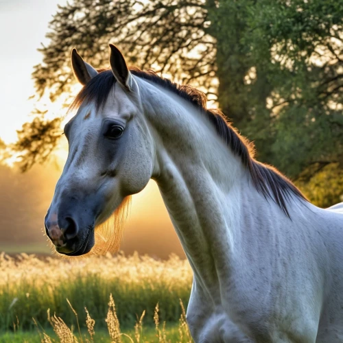
[[[264,165],[254,159],[253,145],[248,143],[235,128],[230,126],[230,123],[226,121],[220,110],[209,110],[206,108],[206,95],[204,93],[192,86],[176,84],[161,78],[154,71],[141,71],[137,68],[130,68],[130,72],[139,78],[154,82],[154,84],[158,84],[158,86],[175,93],[193,104],[200,113],[206,115],[217,130],[217,134],[230,147],[233,153],[241,158],[241,162],[248,169],[248,175],[251,177],[257,191],[263,194],[265,198],[274,200],[288,217],[287,201],[289,198],[297,196],[306,200],[300,190],[274,167]],[[71,108],[80,106],[84,101],[94,101],[97,109],[101,108],[106,103],[115,82],[112,71],[99,70],[99,74],[92,78],[75,97]]]

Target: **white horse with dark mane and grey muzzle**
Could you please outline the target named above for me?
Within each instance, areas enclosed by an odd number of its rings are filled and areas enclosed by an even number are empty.
[[[97,226],[152,178],[193,268],[196,342],[343,342],[343,204],[310,204],[202,93],[110,50],[100,72],[72,52],[84,88],[45,218],[56,250],[90,251]]]

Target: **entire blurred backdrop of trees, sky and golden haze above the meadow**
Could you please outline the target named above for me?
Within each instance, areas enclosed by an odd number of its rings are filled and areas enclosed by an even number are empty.
[[[343,194],[341,1],[0,1],[0,250],[49,253],[43,217],[67,158],[70,53],[206,93],[318,206]],[[133,197],[122,249],[183,257],[154,182]]]

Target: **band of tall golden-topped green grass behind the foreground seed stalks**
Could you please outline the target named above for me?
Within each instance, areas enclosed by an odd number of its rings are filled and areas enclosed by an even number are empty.
[[[178,322],[187,305],[191,268],[185,260],[167,261],[133,255],[84,259],[38,259],[34,255],[0,255],[0,330],[50,327],[51,318],[63,318],[68,327],[86,328],[95,320],[95,331],[106,327],[108,298],[113,294],[122,327],[133,328],[145,311],[144,324],[154,326],[155,307],[161,322]],[[69,299],[73,310],[66,303]],[[86,307],[87,312],[84,310]],[[51,317],[47,318],[47,309]],[[78,316],[75,316],[75,313]],[[110,319],[113,320],[113,319]],[[108,323],[107,323],[108,324]],[[137,329],[139,330],[139,329]]]

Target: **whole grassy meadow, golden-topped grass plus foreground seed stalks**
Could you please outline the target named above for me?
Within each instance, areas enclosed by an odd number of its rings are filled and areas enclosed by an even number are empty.
[[[1,254],[0,342],[191,342],[191,281],[176,255]]]

